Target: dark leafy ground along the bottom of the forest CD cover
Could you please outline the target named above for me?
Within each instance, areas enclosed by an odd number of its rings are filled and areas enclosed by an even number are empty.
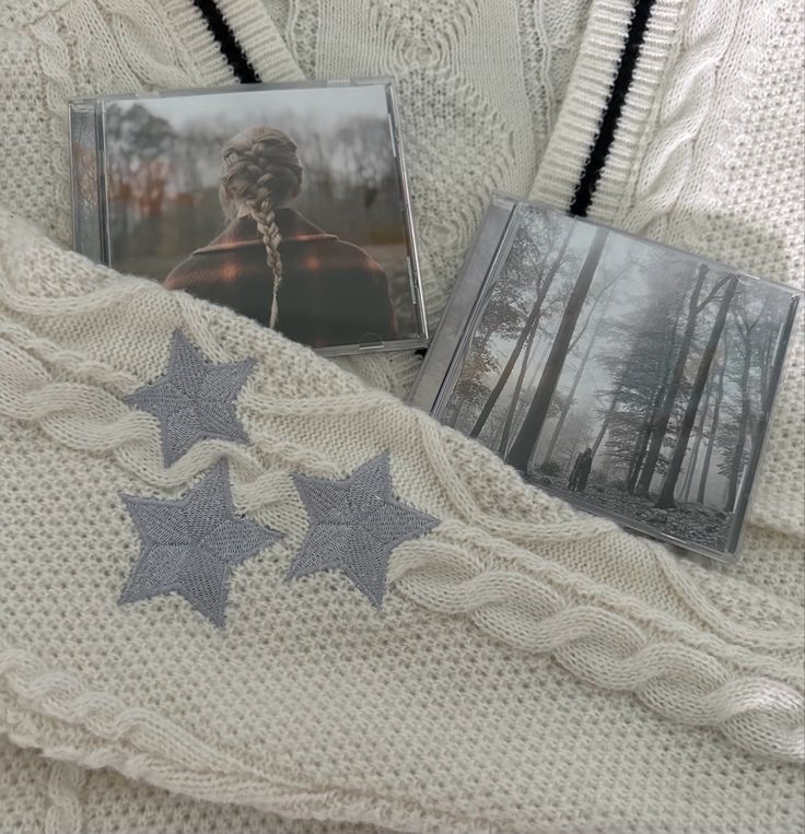
[[[565,498],[591,513],[607,509],[623,517],[625,524],[637,521],[681,541],[703,544],[723,551],[733,524],[732,513],[713,509],[701,504],[678,502],[676,509],[657,509],[656,497],[630,495],[615,485],[588,483],[583,494],[567,489],[567,480],[535,473],[528,480],[536,486]],[[617,520],[617,519],[616,519]]]

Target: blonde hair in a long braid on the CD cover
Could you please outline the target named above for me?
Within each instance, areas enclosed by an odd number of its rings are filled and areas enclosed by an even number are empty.
[[[250,216],[266,246],[266,261],[273,275],[270,327],[277,326],[277,294],[282,283],[282,243],[275,211],[292,200],[302,185],[296,145],[275,128],[242,130],[221,149],[219,196],[229,220]]]

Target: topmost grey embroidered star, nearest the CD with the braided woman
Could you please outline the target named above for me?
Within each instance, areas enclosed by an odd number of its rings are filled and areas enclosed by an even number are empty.
[[[253,360],[214,365],[176,330],[167,373],[124,397],[124,402],[156,416],[165,466],[195,443],[210,438],[248,443],[235,414],[235,400],[254,367]]]

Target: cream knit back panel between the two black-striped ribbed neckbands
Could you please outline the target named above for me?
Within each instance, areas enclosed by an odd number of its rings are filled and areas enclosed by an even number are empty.
[[[560,5],[290,2],[288,42],[306,74],[397,79],[431,316],[446,301],[490,193],[522,193],[534,179],[587,2]]]

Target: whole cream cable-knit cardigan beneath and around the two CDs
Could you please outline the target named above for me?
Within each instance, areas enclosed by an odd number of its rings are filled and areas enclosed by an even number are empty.
[[[434,314],[491,190],[569,204],[631,8],[219,5],[265,81],[398,77]],[[412,356],[338,368],[67,251],[67,99],[231,71],[186,0],[12,0],[7,23],[0,830],[801,830],[802,334],[744,559],[698,566],[401,404]],[[591,214],[801,282],[802,33],[790,0],[656,0]],[[254,362],[248,443],[166,467],[124,399],[177,330]],[[340,572],[287,582],[312,524],[293,474],[384,451],[439,524],[393,550],[382,609]],[[283,536],[232,571],[225,627],[175,592],[119,604],[141,554],[120,496],[179,500],[221,460],[236,513]]]

